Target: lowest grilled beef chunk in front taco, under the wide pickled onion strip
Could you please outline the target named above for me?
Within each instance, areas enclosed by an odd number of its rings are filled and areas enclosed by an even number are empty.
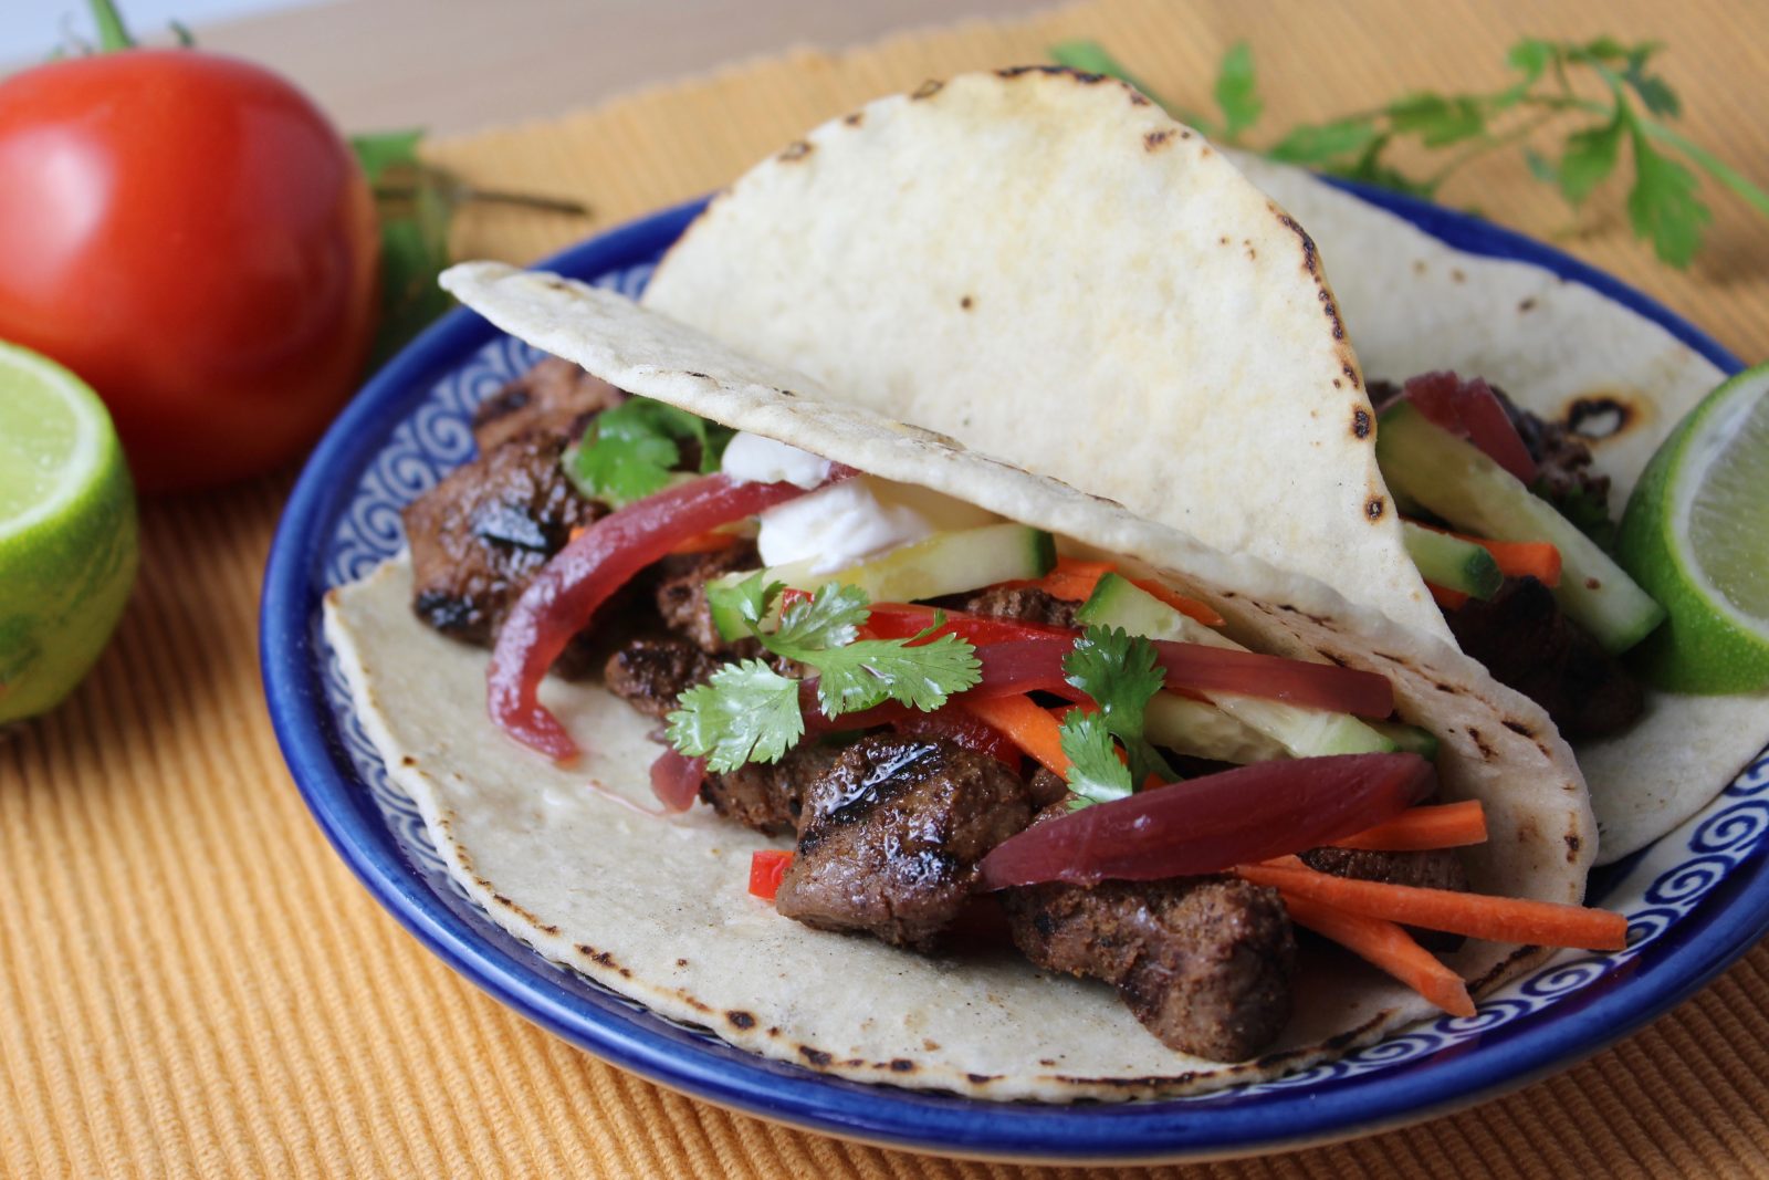
[[[1169,1049],[1240,1061],[1290,1021],[1297,943],[1275,890],[1173,877],[1033,885],[1001,900],[1028,959],[1114,985]]]

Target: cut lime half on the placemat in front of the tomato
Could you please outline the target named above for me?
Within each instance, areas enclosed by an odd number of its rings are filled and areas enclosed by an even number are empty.
[[[104,403],[0,343],[0,722],[55,706],[134,582],[134,490]]]

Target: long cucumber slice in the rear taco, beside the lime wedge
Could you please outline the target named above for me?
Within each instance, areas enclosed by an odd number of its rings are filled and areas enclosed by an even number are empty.
[[[1597,543],[1532,494],[1472,442],[1436,426],[1408,402],[1390,405],[1376,430],[1376,462],[1389,487],[1458,529],[1495,541],[1551,541],[1560,548],[1553,596],[1604,651],[1627,651],[1665,619]]]

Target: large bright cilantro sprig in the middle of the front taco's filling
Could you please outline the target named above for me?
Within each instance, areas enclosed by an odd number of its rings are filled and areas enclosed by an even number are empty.
[[[770,653],[817,672],[817,704],[824,716],[840,716],[897,701],[915,709],[941,708],[955,692],[982,679],[976,649],[957,635],[923,642],[945,619],[911,639],[858,639],[870,614],[867,593],[828,582],[810,598],[780,612],[773,632],[762,630],[782,582],[761,573],[734,586],[709,586],[708,598],[741,617]],[[669,741],[688,757],[704,757],[711,771],[745,762],[773,762],[805,736],[798,704],[800,681],[761,660],[727,665],[681,693],[669,715]]]

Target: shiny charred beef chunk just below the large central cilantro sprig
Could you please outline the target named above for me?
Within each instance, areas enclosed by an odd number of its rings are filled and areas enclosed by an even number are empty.
[[[1031,821],[1019,775],[952,741],[874,734],[805,793],[775,908],[824,931],[929,950],[964,909],[976,862]]]

